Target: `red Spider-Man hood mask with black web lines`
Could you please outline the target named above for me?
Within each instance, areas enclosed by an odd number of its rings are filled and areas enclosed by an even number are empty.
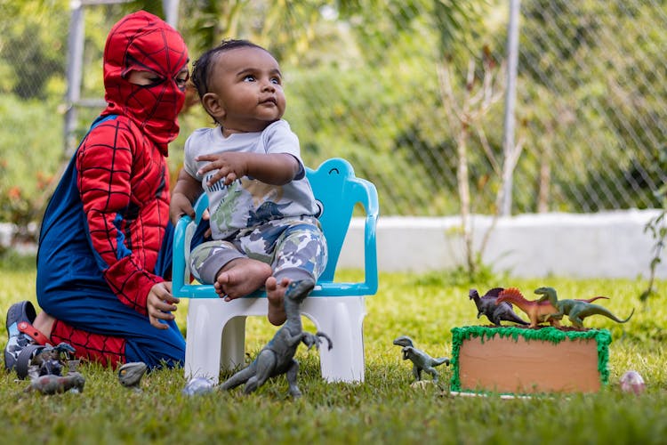
[[[179,134],[177,117],[185,101],[173,77],[187,63],[188,49],[178,31],[149,12],[126,15],[111,28],[104,48],[108,106],[102,114],[131,118],[166,156],[167,144]],[[133,85],[125,79],[133,69],[154,71],[162,79]]]

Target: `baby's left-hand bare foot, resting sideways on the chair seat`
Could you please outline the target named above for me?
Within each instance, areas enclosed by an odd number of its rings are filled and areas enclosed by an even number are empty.
[[[271,276],[271,266],[250,258],[237,258],[225,264],[214,284],[216,292],[233,300],[253,293]]]

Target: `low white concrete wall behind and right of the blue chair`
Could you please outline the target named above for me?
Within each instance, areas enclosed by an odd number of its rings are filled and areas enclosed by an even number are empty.
[[[483,255],[495,271],[517,277],[647,277],[655,240],[644,228],[655,210],[599,214],[522,214],[499,218]],[[477,246],[492,218],[475,216]],[[461,218],[380,217],[377,227],[381,271],[443,270],[465,259]],[[339,265],[363,266],[363,220],[350,227]],[[661,263],[658,278],[667,278]]]

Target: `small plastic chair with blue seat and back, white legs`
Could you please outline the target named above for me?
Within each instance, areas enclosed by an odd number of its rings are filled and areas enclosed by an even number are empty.
[[[333,349],[320,349],[320,368],[327,381],[363,382],[365,372],[363,320],[364,299],[378,286],[375,225],[379,214],[373,183],[355,177],[350,163],[342,158],[326,160],[317,170],[307,168],[310,185],[321,208],[319,220],[325,233],[329,259],[325,271],[301,314],[317,330],[331,337]],[[364,231],[365,279],[348,283],[334,281],[336,263],[350,226],[352,211],[361,204],[366,211]],[[208,206],[205,195],[197,201],[196,220],[184,216],[173,239],[173,295],[190,298],[185,352],[187,378],[202,376],[218,383],[221,368],[241,367],[245,362],[245,318],[266,316],[263,292],[225,302],[211,285],[190,284],[188,255],[196,224]]]

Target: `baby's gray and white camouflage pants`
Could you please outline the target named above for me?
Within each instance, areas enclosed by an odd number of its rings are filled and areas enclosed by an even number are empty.
[[[204,284],[213,284],[218,271],[236,258],[267,263],[273,276],[315,279],[325,270],[326,239],[317,218],[273,220],[239,231],[228,239],[206,241],[190,254],[190,271]]]

